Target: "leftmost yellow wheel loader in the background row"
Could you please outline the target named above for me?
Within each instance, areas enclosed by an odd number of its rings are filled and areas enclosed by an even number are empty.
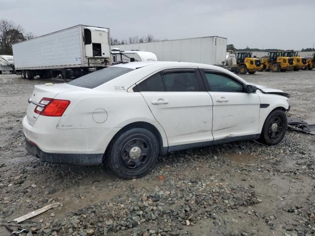
[[[232,72],[240,74],[254,74],[262,68],[260,59],[253,58],[251,52],[238,52],[236,54],[236,66],[231,68]]]

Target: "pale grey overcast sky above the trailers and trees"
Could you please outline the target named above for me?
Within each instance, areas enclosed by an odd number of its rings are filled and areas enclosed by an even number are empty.
[[[0,19],[37,36],[74,25],[111,36],[222,36],[236,48],[313,47],[315,0],[0,0]]]

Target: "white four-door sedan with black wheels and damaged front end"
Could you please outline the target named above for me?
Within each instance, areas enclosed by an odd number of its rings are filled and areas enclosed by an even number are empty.
[[[43,161],[105,162],[134,178],[170,151],[240,140],[278,144],[288,97],[217,66],[131,62],[36,85],[23,130],[27,150]]]

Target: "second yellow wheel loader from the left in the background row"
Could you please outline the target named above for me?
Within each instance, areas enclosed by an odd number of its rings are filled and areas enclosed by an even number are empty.
[[[283,52],[269,52],[269,57],[262,57],[264,71],[284,72],[293,68],[293,59],[284,57]]]

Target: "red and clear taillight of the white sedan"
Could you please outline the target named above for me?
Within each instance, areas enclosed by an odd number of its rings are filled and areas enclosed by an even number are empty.
[[[61,117],[70,104],[69,100],[60,100],[44,97],[40,100],[34,112],[46,117]]]

